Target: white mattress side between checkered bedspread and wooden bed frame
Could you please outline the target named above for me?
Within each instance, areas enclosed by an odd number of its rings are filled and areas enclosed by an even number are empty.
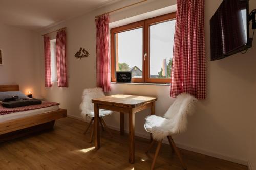
[[[24,118],[24,117],[47,113],[47,112],[52,112],[52,111],[56,111],[58,109],[59,109],[59,106],[55,105],[55,106],[50,106],[50,107],[45,107],[45,108],[40,108],[40,109],[4,114],[4,115],[0,115],[0,123],[6,122],[8,120]]]

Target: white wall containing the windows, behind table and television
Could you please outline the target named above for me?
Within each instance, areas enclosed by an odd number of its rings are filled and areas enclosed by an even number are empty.
[[[60,107],[67,108],[68,114],[80,117],[79,104],[84,88],[96,86],[96,28],[94,16],[130,4],[135,1],[122,1],[98,9],[87,15],[68,20],[41,33],[67,27],[67,58],[69,72],[69,87],[44,87],[44,51],[42,38],[39,37],[41,61],[41,90],[42,95],[50,101],[60,102]],[[236,54],[220,61],[210,62],[210,33],[209,20],[222,1],[205,1],[205,41],[207,58],[207,99],[201,100],[197,112],[189,118],[188,130],[175,137],[180,147],[247,164],[253,123],[252,115],[255,113],[252,105],[255,95],[256,72],[256,42],[253,48],[245,55]],[[111,14],[111,22],[150,12],[176,4],[176,1],[153,1],[127,8]],[[250,8],[256,7],[250,1]],[[53,35],[54,37],[55,35]],[[74,54],[80,47],[86,48],[90,56],[76,59]],[[111,84],[110,94],[138,94],[157,96],[156,114],[163,115],[174,99],[169,97],[169,86],[157,85],[120,85]],[[253,101],[254,100],[254,101]],[[136,114],[136,134],[148,136],[143,129],[144,118],[148,111]],[[126,118],[127,120],[127,118]],[[106,117],[111,127],[119,128],[119,115]],[[127,122],[126,122],[127,125]],[[127,126],[126,126],[127,130]]]

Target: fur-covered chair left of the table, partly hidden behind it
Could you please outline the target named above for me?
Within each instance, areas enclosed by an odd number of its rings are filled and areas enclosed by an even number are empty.
[[[87,117],[90,117],[90,123],[88,127],[86,128],[86,131],[84,131],[84,134],[87,133],[89,130],[90,126],[92,125],[92,130],[91,130],[91,137],[89,143],[92,142],[93,140],[93,134],[94,134],[94,105],[92,103],[92,99],[95,98],[101,98],[105,96],[105,94],[102,91],[102,88],[89,88],[89,89],[84,89],[83,95],[82,95],[82,103],[80,104],[80,109],[81,109],[81,116],[83,117],[84,120],[86,120]],[[102,130],[104,131],[104,128],[110,136],[112,137],[112,134],[106,126],[106,123],[104,122],[103,118],[104,116],[112,114],[113,111],[110,110],[104,110],[104,109],[99,109],[99,121],[102,127]]]

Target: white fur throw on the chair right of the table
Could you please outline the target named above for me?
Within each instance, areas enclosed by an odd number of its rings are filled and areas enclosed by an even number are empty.
[[[146,117],[145,130],[152,133],[153,138],[158,141],[169,135],[184,132],[187,127],[187,115],[193,114],[196,101],[190,94],[178,95],[164,117]]]

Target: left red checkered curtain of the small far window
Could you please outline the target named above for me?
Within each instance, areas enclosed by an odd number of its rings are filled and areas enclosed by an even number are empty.
[[[44,45],[45,45],[45,86],[52,86],[51,78],[51,50],[50,50],[50,39],[48,34],[44,35]]]

